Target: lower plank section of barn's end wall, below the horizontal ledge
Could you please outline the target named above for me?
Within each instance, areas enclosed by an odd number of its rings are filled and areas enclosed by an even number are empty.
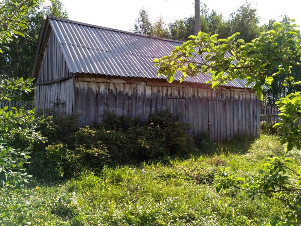
[[[48,108],[57,113],[73,114],[74,80],[75,77],[72,77],[55,83],[38,85],[35,89],[36,109]],[[55,106],[57,102],[65,103],[57,108]]]

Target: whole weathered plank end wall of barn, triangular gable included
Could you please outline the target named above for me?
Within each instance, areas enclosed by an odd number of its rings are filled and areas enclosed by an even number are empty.
[[[58,40],[51,30],[36,80],[35,106],[37,109],[52,109],[55,112],[73,113],[74,77],[69,73]],[[65,80],[61,80],[64,79]],[[56,107],[56,103],[66,102]]]

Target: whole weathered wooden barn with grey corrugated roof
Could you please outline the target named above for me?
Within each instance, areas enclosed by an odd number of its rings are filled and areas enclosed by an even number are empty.
[[[214,91],[209,75],[180,74],[168,83],[156,76],[154,58],[182,42],[48,17],[42,24],[31,77],[37,109],[81,113],[79,124],[101,121],[104,110],[141,117],[169,108],[193,126],[191,135],[208,133],[213,141],[258,137],[260,101],[232,80]],[[64,105],[55,107],[63,102]]]

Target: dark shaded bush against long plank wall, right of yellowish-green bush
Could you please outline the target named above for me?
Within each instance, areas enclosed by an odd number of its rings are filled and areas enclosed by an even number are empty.
[[[186,154],[194,149],[194,140],[187,133],[190,124],[180,122],[180,117],[165,110],[150,115],[147,122],[142,122],[139,118],[118,117],[106,112],[103,122],[93,128],[113,159],[125,163],[131,159],[148,160]]]

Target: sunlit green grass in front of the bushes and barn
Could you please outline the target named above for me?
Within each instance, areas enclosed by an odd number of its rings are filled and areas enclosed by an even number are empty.
[[[28,190],[36,225],[264,225],[286,210],[278,199],[237,200],[228,203],[216,193],[214,176],[220,167],[250,177],[281,156],[276,137],[200,145],[184,158],[106,167],[99,172],[80,169],[80,175],[61,183],[35,181]],[[287,156],[300,169],[297,150]]]

